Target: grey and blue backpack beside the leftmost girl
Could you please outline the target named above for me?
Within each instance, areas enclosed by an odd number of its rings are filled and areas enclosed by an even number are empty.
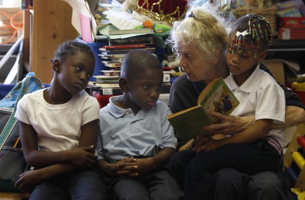
[[[14,184],[29,167],[21,149],[19,123],[14,115],[18,101],[25,94],[42,88],[40,80],[29,73],[0,100],[0,192],[21,192]]]

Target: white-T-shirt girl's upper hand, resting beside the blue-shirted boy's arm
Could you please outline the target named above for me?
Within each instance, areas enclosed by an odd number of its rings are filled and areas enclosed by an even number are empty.
[[[90,169],[97,158],[97,156],[90,152],[92,148],[93,145],[67,150],[68,160],[72,165],[75,165],[81,169]]]

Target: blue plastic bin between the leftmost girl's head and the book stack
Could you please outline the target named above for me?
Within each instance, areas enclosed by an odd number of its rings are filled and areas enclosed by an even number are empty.
[[[75,41],[85,43],[91,48],[92,52],[95,55],[95,67],[93,76],[101,75],[102,73],[100,72],[100,70],[105,69],[105,65],[102,63],[102,58],[98,56],[98,48],[108,45],[108,42],[85,42],[80,38],[76,38]],[[95,81],[95,79],[91,77],[90,81]]]

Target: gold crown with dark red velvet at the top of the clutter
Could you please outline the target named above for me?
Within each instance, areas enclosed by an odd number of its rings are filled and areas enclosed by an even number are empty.
[[[187,0],[136,0],[134,11],[169,24],[178,21],[187,11]]]

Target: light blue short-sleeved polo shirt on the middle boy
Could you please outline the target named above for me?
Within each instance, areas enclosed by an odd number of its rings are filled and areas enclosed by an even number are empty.
[[[134,116],[130,108],[115,105],[120,100],[121,96],[111,97],[110,103],[99,111],[98,159],[148,158],[164,147],[176,149],[174,129],[166,119],[171,112],[164,102],[157,101],[151,110],[142,109]]]

